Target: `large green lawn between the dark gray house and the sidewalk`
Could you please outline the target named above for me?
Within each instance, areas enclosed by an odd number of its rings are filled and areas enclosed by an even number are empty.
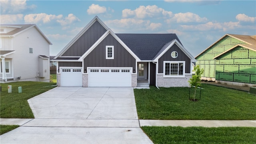
[[[138,117],[153,120],[256,120],[255,95],[209,84],[202,84],[202,88],[198,102],[189,100],[189,88],[158,90],[151,86],[150,89],[134,89]]]

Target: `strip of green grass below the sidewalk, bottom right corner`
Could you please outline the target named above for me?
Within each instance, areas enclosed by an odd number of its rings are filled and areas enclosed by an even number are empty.
[[[255,144],[256,128],[142,126],[154,144]]]

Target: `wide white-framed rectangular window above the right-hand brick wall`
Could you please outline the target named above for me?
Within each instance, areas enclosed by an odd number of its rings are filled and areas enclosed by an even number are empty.
[[[185,77],[185,61],[164,61],[164,77],[184,78]]]

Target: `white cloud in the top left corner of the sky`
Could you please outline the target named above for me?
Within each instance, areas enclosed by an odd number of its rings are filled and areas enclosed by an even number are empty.
[[[20,13],[24,10],[35,9],[36,5],[27,6],[26,0],[0,0],[0,9],[2,14]]]

